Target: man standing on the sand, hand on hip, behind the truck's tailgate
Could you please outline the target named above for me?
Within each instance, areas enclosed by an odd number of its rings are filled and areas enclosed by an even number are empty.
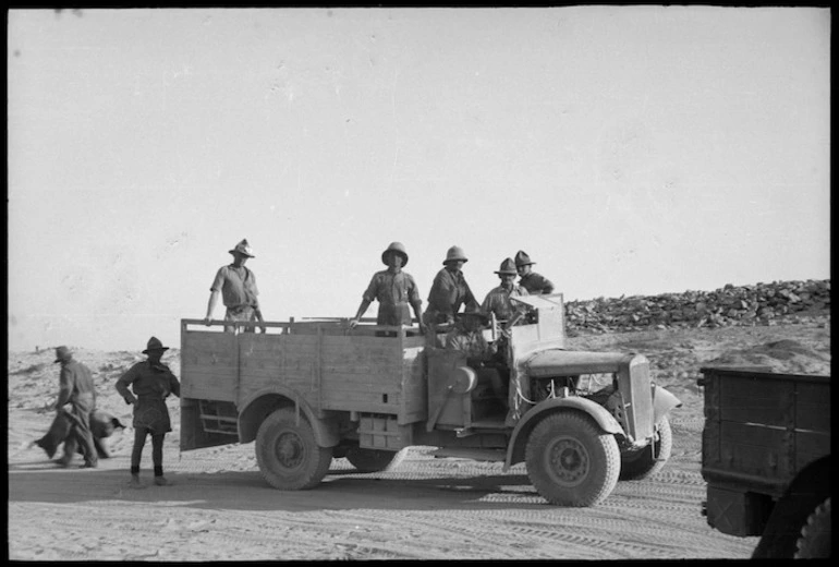
[[[169,370],[169,366],[160,362],[163,352],[169,347],[163,347],[157,337],[148,339],[143,354],[148,357],[143,362],[137,362],[117,381],[117,391],[123,397],[125,403],[134,406],[134,448],[131,451],[131,486],[139,488],[139,461],[143,457],[143,445],[146,436],[151,435],[151,462],[155,467],[155,484],[163,486],[168,484],[163,476],[163,437],[172,431],[169,421],[169,409],[166,407],[166,398],[169,394],[181,397],[181,384]],[[129,386],[134,390],[132,394]]]

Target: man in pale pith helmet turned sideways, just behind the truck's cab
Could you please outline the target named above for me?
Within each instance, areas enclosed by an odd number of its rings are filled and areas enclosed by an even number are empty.
[[[431,291],[428,293],[428,306],[423,314],[428,333],[428,346],[438,347],[437,326],[452,325],[454,314],[465,304],[467,310],[476,310],[477,301],[463,277],[463,264],[469,258],[460,246],[451,246],[442,261],[443,268],[434,277]]]

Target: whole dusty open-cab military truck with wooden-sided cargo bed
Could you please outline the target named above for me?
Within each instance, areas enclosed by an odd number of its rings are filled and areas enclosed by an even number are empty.
[[[306,490],[332,458],[373,472],[430,446],[504,471],[525,462],[538,493],[562,506],[596,505],[619,479],[659,470],[681,402],[652,383],[647,359],[568,350],[561,293],[515,301],[526,319],[483,330],[499,347],[488,363],[366,318],[259,323],[264,333],[182,319],[181,449],[255,442],[268,484]],[[491,390],[499,377],[512,395]]]

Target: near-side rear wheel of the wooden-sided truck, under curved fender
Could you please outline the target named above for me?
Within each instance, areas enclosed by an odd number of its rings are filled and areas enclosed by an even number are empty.
[[[316,486],[329,472],[332,449],[315,443],[312,425],[292,408],[282,408],[266,418],[256,433],[256,462],[263,478],[281,491],[302,491]]]

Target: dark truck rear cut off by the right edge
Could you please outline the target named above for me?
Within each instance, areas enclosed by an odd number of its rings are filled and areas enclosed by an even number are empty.
[[[705,367],[702,514],[753,558],[830,556],[830,376]]]

